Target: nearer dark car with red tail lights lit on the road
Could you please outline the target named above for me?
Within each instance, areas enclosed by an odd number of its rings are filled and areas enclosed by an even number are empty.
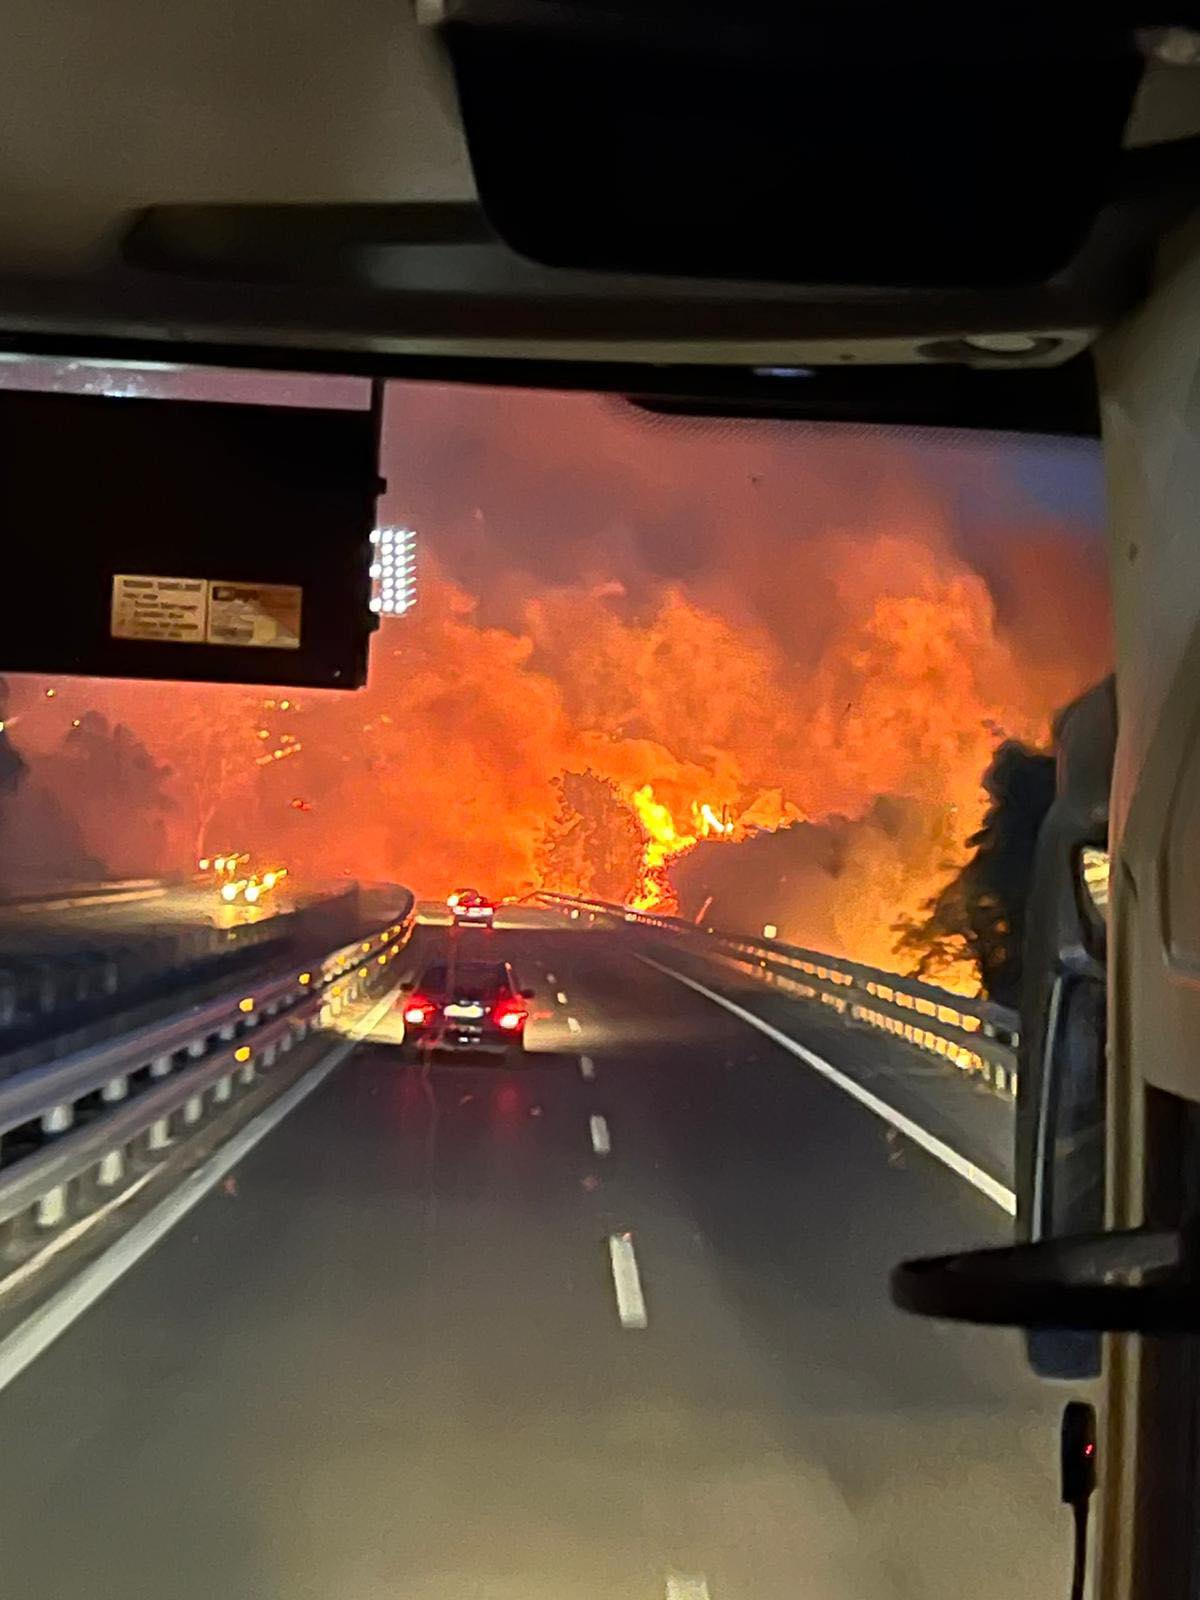
[[[525,1050],[533,989],[518,986],[507,962],[438,962],[402,987],[406,1043],[461,1054]]]

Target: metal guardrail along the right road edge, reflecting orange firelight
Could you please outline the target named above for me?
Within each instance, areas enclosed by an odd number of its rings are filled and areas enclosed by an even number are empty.
[[[1016,1096],[1016,1053],[1021,1022],[1016,1011],[990,1000],[971,1000],[936,984],[861,962],[845,962],[778,939],[722,933],[680,917],[635,912],[605,901],[539,891],[533,899],[568,914],[635,923],[688,942],[698,955],[733,965],[760,982],[800,1000],[827,1006],[845,1022],[875,1027],[926,1054],[939,1056],[976,1075],[1005,1098]]]

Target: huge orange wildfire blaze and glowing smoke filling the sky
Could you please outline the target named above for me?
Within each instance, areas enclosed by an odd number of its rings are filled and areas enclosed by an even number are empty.
[[[886,966],[898,918],[965,859],[997,744],[1043,742],[1056,707],[1107,670],[1088,530],[1019,523],[1003,507],[1030,502],[1002,494],[997,522],[1013,525],[968,557],[944,485],[902,443],[798,430],[797,446],[773,427],[726,442],[590,398],[403,394],[421,470],[397,477],[427,496],[403,520],[493,574],[486,613],[427,555],[421,603],[382,621],[368,688],[299,709],[270,690],[14,683],[16,744],[64,803],[99,794],[59,750],[86,710],[170,770],[155,861],[134,805],[78,808],[83,846],[110,867],[171,870],[237,829],[304,882],[522,894],[539,885],[555,781],[587,771],[624,827],[590,819],[595,848],[640,843],[630,906],[675,909],[672,867],[714,842],[827,826],[830,858],[773,885],[752,926]],[[493,522],[510,546],[490,565]]]

